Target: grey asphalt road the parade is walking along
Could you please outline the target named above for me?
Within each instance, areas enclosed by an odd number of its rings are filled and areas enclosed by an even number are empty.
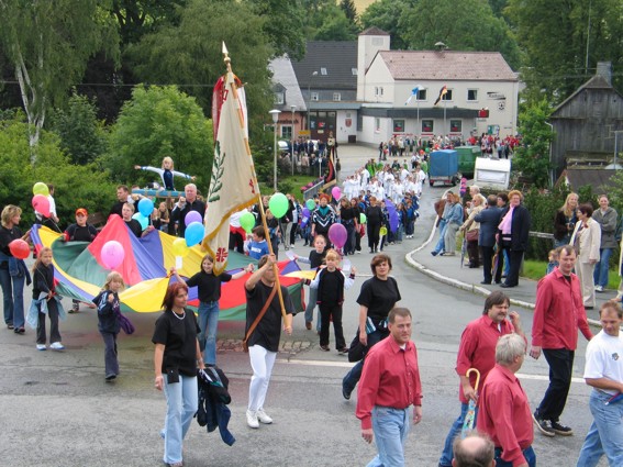
[[[375,149],[361,146],[340,146],[340,151],[344,173],[376,156]],[[415,238],[387,248],[393,258],[392,274],[402,293],[401,304],[414,315],[413,340],[423,381],[423,421],[412,429],[407,443],[409,466],[437,465],[447,430],[459,411],[454,365],[460,333],[468,321],[481,314],[483,303],[481,297],[436,282],[404,263],[404,255],[427,237],[432,202],[443,190],[425,189]],[[307,248],[297,247],[298,254],[303,252]],[[369,273],[369,254],[351,258],[361,276]],[[355,299],[363,280],[365,277],[357,279],[346,293],[347,340],[357,327]],[[532,312],[516,311],[530,333]],[[164,394],[153,388],[151,343],[157,313],[130,318],[136,333],[120,336],[121,376],[114,383],[104,382],[103,343],[93,311],[84,309],[62,323],[67,346],[64,352],[37,352],[32,330],[22,336],[0,330],[0,465],[162,465],[163,441],[158,432],[166,402]],[[235,347],[243,331],[242,323],[221,323],[220,347]],[[230,377],[230,429],[236,443],[229,447],[218,433],[207,433],[193,424],[185,443],[186,466],[360,466],[374,457],[375,446],[361,440],[354,415],[356,396],[345,401],[341,394],[341,380],[351,364],[334,351],[320,351],[315,332],[304,329],[301,314],[294,319],[293,335],[282,341],[285,348],[297,351],[281,352],[275,366],[265,404],[275,423],[259,430],[246,426],[248,357],[236,349],[220,352],[218,363]],[[577,379],[563,414],[563,422],[571,425],[576,435],[546,438],[535,433],[534,448],[541,466],[576,465],[591,421],[589,389],[581,380],[585,349],[586,342],[580,338]],[[547,365],[543,359],[526,358],[520,379],[531,403],[538,403],[547,386]]]

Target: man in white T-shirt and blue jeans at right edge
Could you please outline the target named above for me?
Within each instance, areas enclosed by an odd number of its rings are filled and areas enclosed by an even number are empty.
[[[611,467],[623,466],[623,402],[611,401],[623,392],[623,311],[605,302],[599,311],[601,331],[589,342],[585,381],[592,387],[593,422],[585,440],[578,467],[596,467],[603,455]]]

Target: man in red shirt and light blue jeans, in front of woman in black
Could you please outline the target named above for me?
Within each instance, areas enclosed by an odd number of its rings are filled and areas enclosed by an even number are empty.
[[[390,336],[368,352],[357,392],[357,419],[361,437],[375,440],[378,455],[368,466],[404,465],[404,441],[409,433],[409,407],[413,423],[422,420],[422,383],[418,351],[411,341],[411,312],[389,312]]]

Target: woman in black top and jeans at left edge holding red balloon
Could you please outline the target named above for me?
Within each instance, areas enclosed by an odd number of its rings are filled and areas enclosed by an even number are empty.
[[[4,299],[4,323],[15,334],[24,333],[24,281],[31,283],[31,276],[23,259],[18,259],[11,253],[9,244],[22,238],[22,231],[18,226],[22,210],[8,204],[2,210],[2,225],[0,226],[0,285]],[[30,233],[26,233],[26,237]]]

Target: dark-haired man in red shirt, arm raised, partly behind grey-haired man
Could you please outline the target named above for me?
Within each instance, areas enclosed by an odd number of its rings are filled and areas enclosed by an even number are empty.
[[[510,300],[507,294],[497,290],[487,297],[482,316],[470,322],[463,335],[456,358],[456,373],[460,378],[458,397],[460,399],[460,415],[452,425],[446,437],[444,451],[440,458],[440,467],[450,467],[453,459],[453,443],[460,433],[469,401],[478,401],[476,393],[476,375],[467,378],[469,368],[480,371],[480,385],[487,379],[489,371],[496,366],[496,344],[500,336],[516,332],[524,340],[520,316],[515,311],[509,312]],[[510,319],[507,320],[507,316]],[[476,416],[478,412],[476,412]]]

